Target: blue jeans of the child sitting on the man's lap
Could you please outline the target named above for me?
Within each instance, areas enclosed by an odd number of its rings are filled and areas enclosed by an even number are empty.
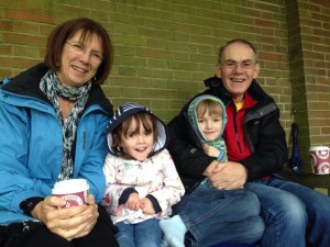
[[[255,243],[264,232],[256,195],[245,189],[217,190],[200,184],[174,207],[188,228],[187,245]]]

